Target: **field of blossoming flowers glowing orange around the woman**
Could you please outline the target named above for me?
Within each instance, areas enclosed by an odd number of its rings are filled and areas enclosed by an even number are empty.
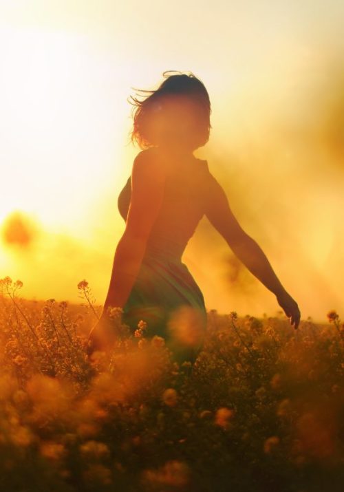
[[[208,312],[193,367],[112,311],[118,342],[89,358],[100,316],[28,301],[0,280],[0,490],[342,491],[344,324]]]

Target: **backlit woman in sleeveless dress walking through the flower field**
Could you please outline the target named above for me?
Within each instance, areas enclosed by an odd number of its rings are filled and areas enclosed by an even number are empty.
[[[203,83],[193,74],[178,73],[149,92],[143,101],[133,98],[137,108],[131,141],[135,139],[142,151],[118,197],[125,232],[116,248],[103,314],[89,334],[89,353],[111,347],[116,334],[107,308],[117,306],[123,310],[122,323],[132,332],[140,320],[146,321],[146,336],[163,336],[175,361],[195,361],[204,342],[206,308],[182,254],[203,215],[250,272],[274,292],[297,328],[297,303],[237,222],[208,162],[193,156],[208,141],[211,128],[211,104]]]

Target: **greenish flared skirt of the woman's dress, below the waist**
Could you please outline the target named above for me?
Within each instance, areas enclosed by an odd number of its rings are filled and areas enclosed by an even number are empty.
[[[174,361],[195,362],[204,345],[207,314],[202,291],[180,259],[145,255],[122,323],[134,332],[147,323],[146,338],[162,336]]]

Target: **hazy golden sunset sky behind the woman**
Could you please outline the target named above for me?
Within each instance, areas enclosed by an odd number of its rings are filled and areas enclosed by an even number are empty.
[[[103,304],[140,151],[129,96],[180,70],[211,99],[195,156],[301,319],[344,317],[343,18],[334,0],[0,0],[0,278],[71,302],[87,279]],[[206,217],[182,261],[208,310],[281,310]]]

